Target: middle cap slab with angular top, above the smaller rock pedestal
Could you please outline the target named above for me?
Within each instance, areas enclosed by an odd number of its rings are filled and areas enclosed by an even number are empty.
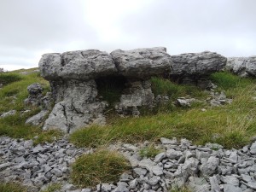
[[[110,53],[119,74],[130,78],[147,78],[153,75],[169,74],[172,70],[171,55],[166,48],[121,50]]]

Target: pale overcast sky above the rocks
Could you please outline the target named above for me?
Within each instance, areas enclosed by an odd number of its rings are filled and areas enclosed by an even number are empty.
[[[256,0],[0,0],[0,68],[44,53],[165,46],[256,55]]]

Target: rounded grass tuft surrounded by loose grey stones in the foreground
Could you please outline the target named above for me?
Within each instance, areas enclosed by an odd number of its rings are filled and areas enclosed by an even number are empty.
[[[72,168],[73,183],[79,187],[117,182],[123,172],[131,169],[123,156],[107,150],[98,150],[93,154],[79,157]]]

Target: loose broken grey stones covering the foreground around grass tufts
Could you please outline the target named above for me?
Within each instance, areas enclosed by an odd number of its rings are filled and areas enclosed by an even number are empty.
[[[80,154],[93,149],[75,148],[67,137],[54,143],[32,145],[32,140],[0,137],[0,178],[21,181],[31,191],[44,189],[47,183],[62,183],[61,191],[168,191],[187,185],[193,191],[256,191],[256,142],[241,149],[224,149],[218,144],[192,145],[186,139],[161,138],[155,147],[160,154],[142,158],[139,151],[149,143],[114,144],[131,162],[132,171],[124,173],[119,183],[98,184],[95,189],[76,189],[68,183],[70,165]]]

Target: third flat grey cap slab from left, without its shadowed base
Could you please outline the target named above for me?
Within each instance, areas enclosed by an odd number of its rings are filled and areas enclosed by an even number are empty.
[[[172,75],[209,75],[226,65],[227,58],[215,52],[172,55]]]

